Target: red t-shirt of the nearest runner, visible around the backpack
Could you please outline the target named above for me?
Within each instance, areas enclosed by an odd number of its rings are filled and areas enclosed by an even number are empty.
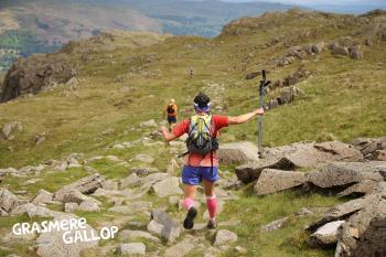
[[[173,129],[173,135],[175,137],[181,137],[184,133],[189,132],[189,126],[191,120],[185,119],[184,121],[178,124]],[[228,118],[226,116],[214,115],[212,117],[212,137],[216,138],[218,131],[228,126]],[[191,167],[212,167],[211,153],[207,153],[205,157],[197,153],[190,153],[185,157],[185,164]],[[218,158],[216,152],[213,152],[213,165],[218,167]]]

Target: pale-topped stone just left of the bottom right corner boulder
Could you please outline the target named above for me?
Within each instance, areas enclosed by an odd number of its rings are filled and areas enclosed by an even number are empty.
[[[335,246],[337,243],[337,231],[344,223],[344,221],[336,221],[324,224],[310,235],[307,243],[312,247],[328,248]]]

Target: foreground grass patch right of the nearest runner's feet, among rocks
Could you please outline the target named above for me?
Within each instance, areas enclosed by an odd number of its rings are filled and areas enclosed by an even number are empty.
[[[219,215],[221,221],[240,219],[238,226],[229,227],[238,235],[236,245],[248,249],[248,256],[333,256],[331,250],[310,248],[304,239],[305,225],[318,218],[317,216],[293,216],[302,207],[323,207],[340,203],[333,196],[320,193],[302,193],[300,191],[286,191],[267,195],[254,196],[249,191],[242,193],[239,200],[226,204],[225,211]],[[240,215],[243,214],[243,215]],[[290,219],[283,228],[274,232],[262,232],[261,226],[279,218]],[[232,249],[225,256],[237,256]]]

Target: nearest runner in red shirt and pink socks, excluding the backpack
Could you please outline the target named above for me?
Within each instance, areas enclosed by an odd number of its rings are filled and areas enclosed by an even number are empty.
[[[211,137],[216,139],[218,131],[229,125],[244,124],[257,115],[264,115],[264,109],[257,109],[253,113],[240,115],[237,117],[227,117],[219,115],[211,116],[211,99],[200,93],[194,98],[194,110],[197,117],[210,118]],[[195,117],[195,116],[193,116]],[[193,118],[192,117],[192,118]],[[186,119],[178,124],[172,132],[169,132],[165,127],[161,127],[161,132],[167,141],[172,141],[184,133],[189,133],[191,129],[191,120]],[[206,195],[206,206],[210,213],[210,221],[207,227],[213,229],[216,227],[216,210],[217,200],[214,192],[214,182],[219,180],[218,176],[218,158],[215,151],[205,156],[199,153],[189,153],[185,157],[185,164],[182,170],[182,182],[184,183],[184,201],[183,206],[187,211],[184,219],[184,227],[186,229],[193,228],[194,218],[197,215],[197,210],[194,207],[194,197],[197,190],[197,185],[202,182],[204,192]]]

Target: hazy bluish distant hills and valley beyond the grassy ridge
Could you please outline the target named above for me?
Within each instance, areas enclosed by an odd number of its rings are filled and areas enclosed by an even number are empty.
[[[100,31],[152,31],[214,36],[230,20],[287,10],[267,2],[218,0],[1,0],[0,71],[18,56],[57,50]]]

